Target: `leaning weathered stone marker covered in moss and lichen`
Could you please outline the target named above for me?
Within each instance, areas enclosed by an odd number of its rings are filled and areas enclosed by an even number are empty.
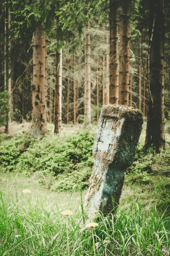
[[[133,163],[142,124],[139,109],[116,105],[102,108],[94,140],[94,169],[85,202],[89,218],[93,218],[96,210],[108,215],[118,206],[126,169]]]

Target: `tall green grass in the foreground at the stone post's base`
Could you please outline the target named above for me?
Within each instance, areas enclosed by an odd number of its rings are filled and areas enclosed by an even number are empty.
[[[74,215],[62,215],[65,209]],[[170,219],[154,207],[132,203],[110,218],[99,214],[93,233],[83,217],[81,201],[65,206],[23,193],[14,201],[0,192],[0,256],[94,256],[94,242],[96,256],[170,255]]]

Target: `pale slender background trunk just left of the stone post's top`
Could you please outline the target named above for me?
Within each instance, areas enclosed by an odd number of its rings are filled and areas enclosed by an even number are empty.
[[[85,122],[91,122],[91,49],[90,22],[85,30]]]

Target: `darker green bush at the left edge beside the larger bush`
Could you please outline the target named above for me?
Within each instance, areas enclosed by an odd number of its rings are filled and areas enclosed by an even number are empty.
[[[34,140],[32,141],[32,143]],[[0,136],[0,164],[4,171],[12,171],[19,161],[20,155],[26,151],[31,144],[31,138],[26,134],[15,137],[1,134]]]

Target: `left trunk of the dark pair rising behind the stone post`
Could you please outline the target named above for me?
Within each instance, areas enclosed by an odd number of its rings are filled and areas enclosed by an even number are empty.
[[[110,104],[118,104],[119,97],[119,51],[117,4],[110,0]]]

